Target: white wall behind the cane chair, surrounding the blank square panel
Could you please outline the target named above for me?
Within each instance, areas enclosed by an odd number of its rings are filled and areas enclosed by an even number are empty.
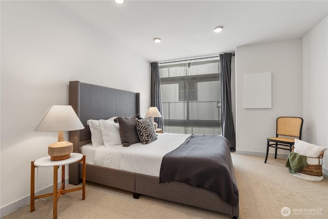
[[[276,118],[302,116],[302,41],[240,46],[235,57],[237,153],[264,156],[267,137],[276,134]],[[244,109],[244,74],[260,72],[272,72],[272,108]]]

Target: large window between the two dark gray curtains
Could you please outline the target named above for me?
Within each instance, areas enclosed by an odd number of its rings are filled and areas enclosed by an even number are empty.
[[[219,60],[159,66],[165,131],[221,134]]]

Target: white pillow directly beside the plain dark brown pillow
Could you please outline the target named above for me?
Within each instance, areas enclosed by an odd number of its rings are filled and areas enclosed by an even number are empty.
[[[111,119],[99,120],[99,123],[105,146],[122,144],[118,123],[115,123]]]

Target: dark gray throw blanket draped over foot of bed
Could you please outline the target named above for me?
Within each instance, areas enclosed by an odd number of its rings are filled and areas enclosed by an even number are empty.
[[[230,144],[220,135],[191,135],[162,160],[159,182],[183,182],[215,192],[221,200],[238,205],[233,182]]]

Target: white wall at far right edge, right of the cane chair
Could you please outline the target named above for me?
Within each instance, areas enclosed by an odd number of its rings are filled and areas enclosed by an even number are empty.
[[[303,45],[303,140],[328,147],[328,17],[307,33]],[[328,152],[323,157],[328,170]]]

